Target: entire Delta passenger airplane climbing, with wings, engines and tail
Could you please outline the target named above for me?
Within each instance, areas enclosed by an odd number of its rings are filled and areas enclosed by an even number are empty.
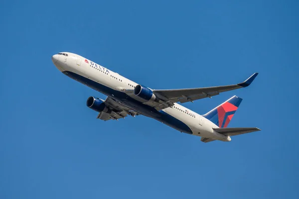
[[[212,98],[222,92],[248,87],[258,73],[235,85],[154,90],[74,53],[55,54],[52,62],[66,76],[108,96],[106,100],[89,97],[86,101],[89,108],[98,112],[97,118],[104,121],[145,115],[180,132],[200,136],[205,143],[214,140],[229,142],[231,136],[261,130],[256,127],[227,127],[242,101],[237,96],[203,115],[177,103]]]

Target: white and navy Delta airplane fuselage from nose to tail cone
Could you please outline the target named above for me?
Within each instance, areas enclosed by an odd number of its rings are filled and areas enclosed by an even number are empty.
[[[134,90],[134,88],[138,85],[137,83],[119,75],[118,73],[115,73],[80,55],[69,52],[63,52],[63,54],[67,54],[68,56],[62,55],[61,53],[53,55],[52,57],[54,65],[61,72],[111,98],[115,97],[114,92]],[[92,82],[92,84],[90,82]],[[129,98],[138,100],[138,97],[135,96],[130,96]],[[145,103],[131,103],[127,100],[121,101],[117,98],[115,100],[118,100],[122,104],[143,115],[155,118],[158,121],[161,121],[162,123],[165,123],[181,132],[185,132],[184,130],[177,128],[175,125],[172,125],[171,122],[169,123],[169,121],[163,121],[163,119],[157,115],[159,112],[152,113],[153,111],[151,110],[151,107]],[[163,111],[162,114],[166,113],[171,115],[175,119],[186,124],[192,131],[192,133],[186,133],[222,141],[230,141],[229,136],[219,134],[213,130],[213,128],[218,128],[216,124],[178,103],[174,103],[174,106],[164,108],[161,111]]]

